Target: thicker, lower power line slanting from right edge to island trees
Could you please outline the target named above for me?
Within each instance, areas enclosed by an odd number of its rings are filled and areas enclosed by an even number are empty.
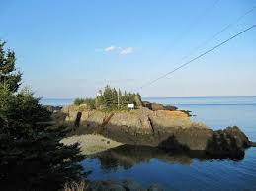
[[[145,86],[149,86],[149,85],[155,83],[156,81],[158,81],[158,80],[160,80],[160,79],[162,79],[162,78],[164,78],[164,77],[166,77],[166,76],[168,76],[168,75],[174,73],[175,71],[177,71],[177,70],[179,70],[179,69],[181,69],[181,68],[187,66],[187,65],[190,64],[191,62],[193,62],[193,61],[195,61],[195,60],[198,60],[199,58],[201,58],[201,57],[205,56],[206,54],[212,52],[214,49],[216,49],[216,48],[222,46],[223,44],[227,43],[227,42],[230,41],[231,39],[233,39],[233,38],[235,38],[235,37],[241,35],[241,34],[244,33],[244,32],[248,32],[249,30],[251,30],[251,29],[253,29],[253,28],[255,28],[255,27],[256,27],[256,24],[253,25],[253,26],[251,26],[251,27],[249,27],[249,28],[247,28],[247,29],[245,29],[245,30],[243,30],[242,32],[236,33],[235,35],[233,35],[233,36],[231,36],[230,38],[228,38],[228,39],[222,41],[221,43],[219,43],[219,44],[217,44],[217,45],[215,45],[213,48],[207,50],[206,52],[200,54],[199,56],[197,56],[197,57],[191,59],[191,60],[188,61],[188,62],[185,62],[184,64],[182,64],[182,65],[180,65],[179,67],[175,68],[174,70],[172,70],[172,71],[170,71],[170,72],[168,72],[168,73],[166,73],[166,74],[164,74],[164,75],[158,77],[157,79],[154,79],[154,80],[152,80],[152,81],[149,81],[148,83],[145,83],[144,85],[142,85],[141,87],[137,88],[136,90],[140,90],[140,89],[144,88]]]

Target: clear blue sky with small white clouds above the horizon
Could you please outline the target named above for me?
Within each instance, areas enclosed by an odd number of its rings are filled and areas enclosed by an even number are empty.
[[[23,86],[44,98],[93,97],[107,84],[144,97],[256,96],[256,28],[138,89],[256,24],[255,6],[256,0],[0,0],[0,39],[16,52]]]

